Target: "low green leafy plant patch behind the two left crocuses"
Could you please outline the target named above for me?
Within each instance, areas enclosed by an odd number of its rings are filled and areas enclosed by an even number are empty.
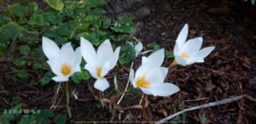
[[[55,40],[60,46],[71,41],[75,47],[78,47],[80,37],[98,46],[108,38],[115,43],[125,41],[131,38],[132,32],[136,31],[129,17],[113,23],[103,15],[106,11],[101,7],[107,5],[105,0],[44,0],[50,8],[41,8],[35,2],[19,2],[10,4],[9,11],[0,14],[0,54],[5,54],[11,43],[15,43],[15,50],[12,53],[14,58],[26,56],[39,60],[34,62],[28,62],[26,59],[16,60],[15,68],[12,68],[17,70],[13,78],[15,81],[34,81],[28,78],[30,72],[20,71],[24,69],[22,67],[28,70],[49,71],[49,66],[45,66],[45,60],[40,61],[45,59],[41,47],[42,36]],[[121,64],[134,60],[133,55],[125,55],[126,51],[121,52],[124,57],[120,60]],[[41,85],[49,83],[51,77],[51,72],[46,71],[40,79]],[[83,71],[76,73],[72,80],[79,84],[88,78],[90,78],[88,72]]]

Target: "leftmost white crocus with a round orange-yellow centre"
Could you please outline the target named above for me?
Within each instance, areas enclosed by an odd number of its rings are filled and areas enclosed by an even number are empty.
[[[80,48],[76,48],[74,51],[71,42],[67,42],[60,49],[55,42],[43,37],[42,47],[44,54],[49,59],[47,63],[50,69],[57,75],[52,78],[55,82],[67,82],[69,76],[81,70]]]

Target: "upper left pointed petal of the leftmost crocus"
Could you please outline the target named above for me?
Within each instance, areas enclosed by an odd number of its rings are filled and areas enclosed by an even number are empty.
[[[43,37],[42,40],[43,40],[42,48],[43,48],[44,54],[48,59],[53,59],[60,56],[61,54],[60,48],[57,46],[55,42],[53,42],[47,37]]]

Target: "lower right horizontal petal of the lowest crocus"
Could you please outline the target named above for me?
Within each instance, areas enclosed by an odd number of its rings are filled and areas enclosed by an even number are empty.
[[[154,96],[166,97],[172,95],[173,93],[177,93],[180,89],[172,83],[165,82],[158,87],[148,88],[148,90]]]

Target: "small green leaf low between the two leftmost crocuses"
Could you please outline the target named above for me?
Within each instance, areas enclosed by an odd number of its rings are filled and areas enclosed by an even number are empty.
[[[73,74],[73,76],[71,76],[71,79],[73,80],[73,82],[77,84],[79,84],[83,80],[86,81],[89,78],[90,78],[90,74],[88,73],[88,71],[76,72]]]

